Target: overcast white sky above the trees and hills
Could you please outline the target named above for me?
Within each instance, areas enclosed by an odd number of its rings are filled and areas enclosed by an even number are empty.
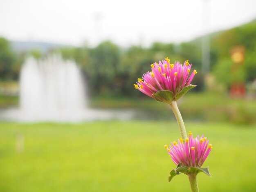
[[[0,36],[70,45],[182,42],[256,18],[256,0],[0,0]]]

